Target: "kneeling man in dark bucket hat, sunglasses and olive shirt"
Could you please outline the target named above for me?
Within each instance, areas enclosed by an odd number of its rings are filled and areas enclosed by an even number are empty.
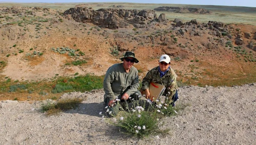
[[[125,52],[120,60],[123,62],[108,68],[103,81],[104,105],[108,108],[108,113],[111,116],[117,115],[120,103],[131,102],[131,100],[136,100],[141,96],[138,90],[138,70],[133,66],[139,61],[135,58],[134,52]]]

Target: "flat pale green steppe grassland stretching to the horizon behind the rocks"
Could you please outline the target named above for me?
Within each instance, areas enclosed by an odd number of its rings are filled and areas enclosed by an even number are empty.
[[[200,23],[207,23],[209,20],[219,21],[223,23],[244,23],[256,25],[256,8],[242,6],[205,6],[205,5],[181,5],[181,4],[153,4],[153,3],[1,3],[1,6],[24,6],[24,7],[45,7],[50,9],[61,9],[63,11],[73,8],[77,5],[92,7],[94,10],[101,8],[114,8],[113,5],[122,5],[122,9],[151,9],[160,6],[174,7],[191,7],[204,8],[212,12],[212,14],[180,14],[173,12],[156,12],[158,16],[161,13],[166,14],[166,18],[174,20],[179,18],[183,21],[196,19]]]

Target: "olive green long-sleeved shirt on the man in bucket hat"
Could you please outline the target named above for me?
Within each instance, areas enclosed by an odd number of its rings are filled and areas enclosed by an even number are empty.
[[[108,97],[114,100],[116,96],[123,93],[131,96],[138,90],[139,85],[138,70],[134,66],[126,73],[123,63],[114,64],[108,68],[103,81],[104,99]],[[128,90],[124,92],[126,89]]]

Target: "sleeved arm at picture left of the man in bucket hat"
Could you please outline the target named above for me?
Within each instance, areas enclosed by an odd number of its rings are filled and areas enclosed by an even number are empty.
[[[110,100],[116,99],[116,97],[113,93],[113,90],[111,88],[111,83],[113,82],[114,78],[115,78],[114,70],[113,70],[113,68],[110,68],[107,71],[104,81],[103,81],[103,88],[104,88],[105,94],[108,98],[110,98]]]

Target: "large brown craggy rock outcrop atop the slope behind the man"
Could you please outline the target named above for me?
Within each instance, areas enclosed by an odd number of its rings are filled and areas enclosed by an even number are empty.
[[[70,8],[64,12],[64,17],[74,19],[77,22],[93,23],[97,26],[109,29],[123,28],[133,25],[136,28],[145,27],[148,22],[158,21],[157,14],[153,10],[129,10],[129,9],[98,9],[87,7]],[[166,20],[161,14],[160,21]]]

